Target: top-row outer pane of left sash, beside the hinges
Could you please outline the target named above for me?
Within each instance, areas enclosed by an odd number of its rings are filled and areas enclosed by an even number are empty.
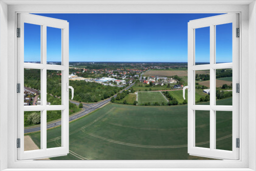
[[[41,26],[24,23],[24,62],[41,62]]]

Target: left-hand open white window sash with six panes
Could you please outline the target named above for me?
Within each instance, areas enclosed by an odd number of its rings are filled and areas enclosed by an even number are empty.
[[[40,63],[24,62],[24,23],[40,26],[41,58]],[[25,106],[24,91],[17,94],[17,138],[20,148],[17,159],[42,159],[64,156],[69,153],[69,23],[66,20],[33,14],[17,14],[17,27],[20,37],[17,38],[17,83],[24,90],[24,69],[40,70],[41,105]],[[61,65],[47,64],[47,27],[61,29]],[[61,74],[61,105],[47,105],[47,70],[60,71]],[[61,111],[61,146],[47,148],[47,111]],[[40,149],[24,151],[24,112],[40,111]]]

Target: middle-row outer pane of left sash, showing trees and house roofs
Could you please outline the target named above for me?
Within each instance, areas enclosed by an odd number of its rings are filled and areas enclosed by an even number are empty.
[[[41,105],[41,71],[24,69],[24,105]]]

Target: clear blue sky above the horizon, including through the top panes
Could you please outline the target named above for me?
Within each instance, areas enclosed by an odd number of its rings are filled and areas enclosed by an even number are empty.
[[[37,14],[67,20],[70,61],[187,62],[187,23],[219,14]],[[231,61],[231,24],[217,26],[217,62]],[[219,29],[218,29],[219,28]],[[47,61],[60,61],[61,31],[47,28]],[[25,61],[40,60],[40,26],[25,25]],[[196,62],[209,61],[209,29],[196,30]]]

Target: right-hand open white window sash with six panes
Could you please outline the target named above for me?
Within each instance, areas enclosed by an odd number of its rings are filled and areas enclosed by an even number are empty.
[[[232,62],[216,63],[216,26],[232,24]],[[209,61],[208,65],[196,65],[196,29],[209,27]],[[239,94],[236,92],[236,83],[239,83],[239,39],[236,31],[239,28],[239,14],[230,13],[211,16],[202,19],[190,20],[188,23],[188,153],[192,156],[201,156],[216,159],[239,159],[239,148],[236,147],[236,139],[239,138]],[[216,105],[216,70],[232,69],[232,105]],[[210,103],[198,105],[195,100],[196,71],[210,71]],[[242,92],[241,92],[242,93]],[[196,115],[197,111],[209,111],[210,123],[210,147],[196,146]],[[232,151],[216,148],[216,112],[232,112]]]

